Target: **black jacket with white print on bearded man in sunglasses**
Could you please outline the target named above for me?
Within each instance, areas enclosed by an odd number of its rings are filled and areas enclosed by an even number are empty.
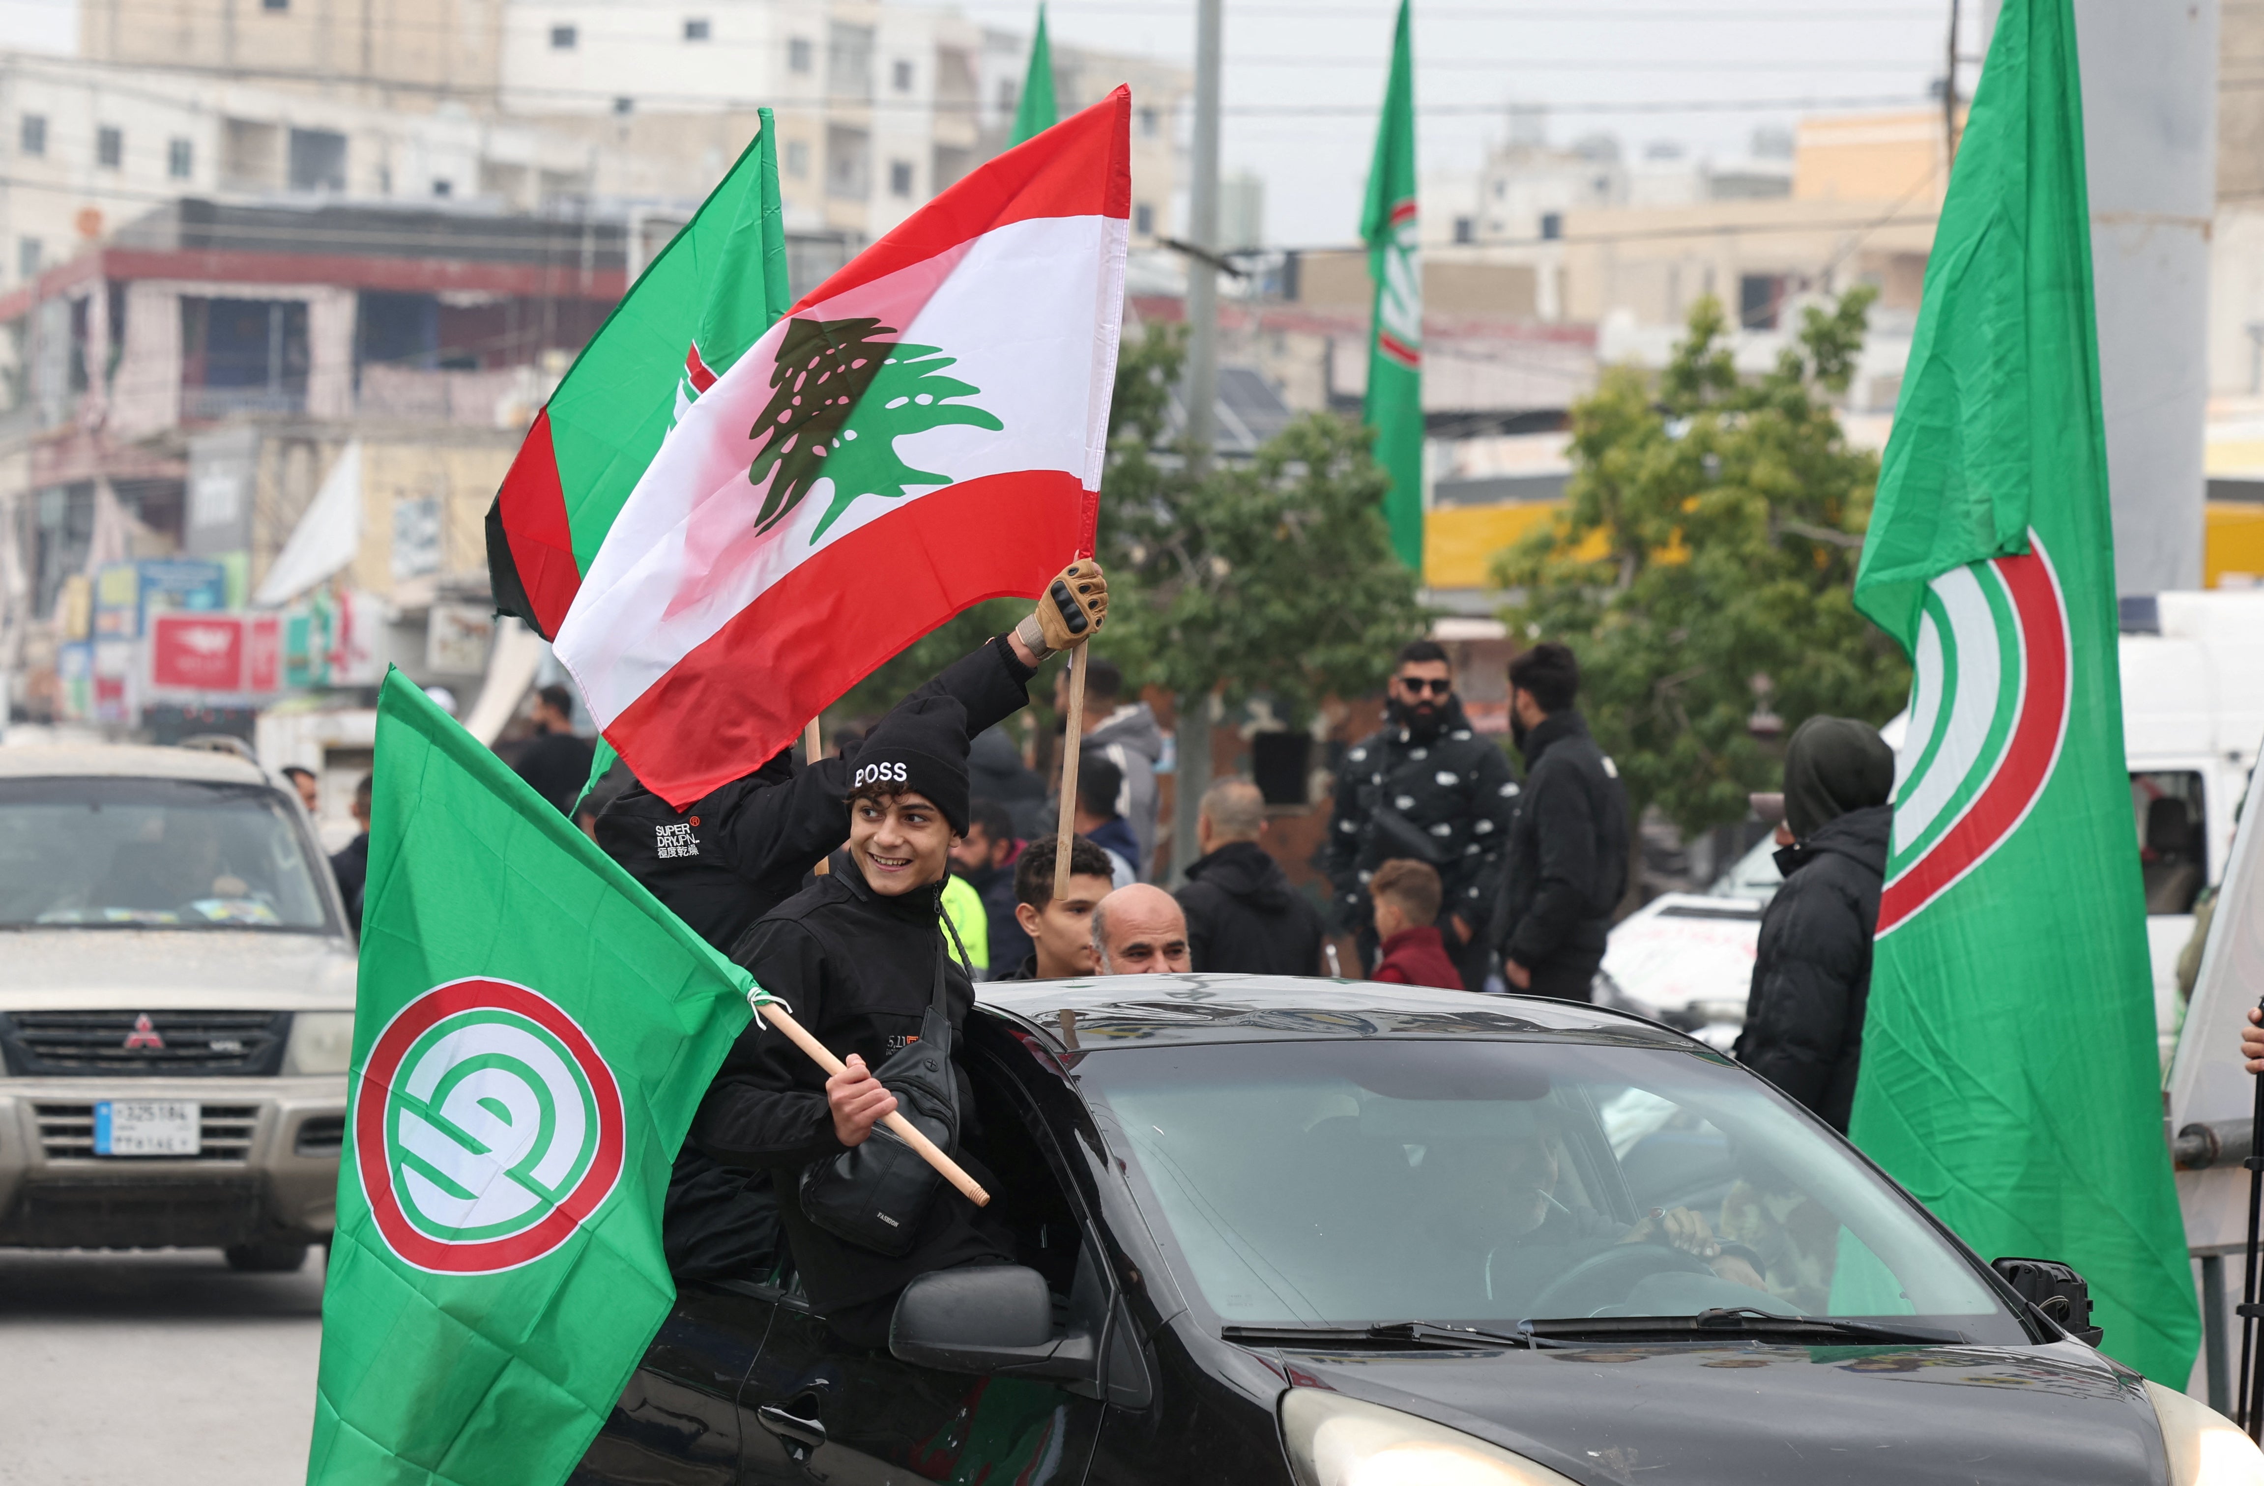
[[[1494,740],[1472,731],[1460,699],[1449,699],[1429,737],[1390,722],[1345,753],[1322,871],[1336,889],[1338,927],[1354,934],[1370,918],[1367,878],[1383,862],[1408,855],[1377,828],[1383,805],[1433,846],[1429,859],[1447,889],[1440,921],[1460,914],[1483,930],[1501,880],[1501,844],[1517,814],[1517,778]]]

